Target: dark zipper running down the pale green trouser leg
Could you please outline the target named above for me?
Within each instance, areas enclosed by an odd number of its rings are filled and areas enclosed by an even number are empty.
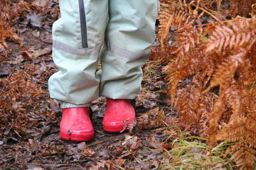
[[[83,48],[88,48],[87,30],[86,30],[86,17],[85,17],[85,10],[84,10],[84,0],[79,0],[79,14],[80,14],[82,47]]]

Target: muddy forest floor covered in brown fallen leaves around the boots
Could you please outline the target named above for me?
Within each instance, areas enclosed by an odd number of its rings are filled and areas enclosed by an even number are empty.
[[[0,169],[158,169],[161,164],[168,163],[168,158],[162,157],[166,149],[166,143],[162,141],[167,136],[163,131],[169,127],[162,124],[148,129],[145,125],[147,123],[138,122],[138,127],[134,127],[132,132],[106,134],[102,130],[106,108],[104,97],[92,103],[92,122],[95,127],[92,141],[67,143],[60,139],[60,103],[49,99],[47,85],[49,76],[58,71],[51,55],[51,25],[55,18],[49,17],[58,11],[58,3],[51,1],[51,7],[50,14],[31,13],[17,18],[12,27],[16,29],[23,45],[6,40],[10,52],[1,57],[0,80],[7,81],[8,84],[6,87],[0,86],[1,94],[8,94],[7,90],[11,88],[7,87],[12,85],[8,79],[18,77],[19,73],[27,74],[27,67],[35,67],[36,71],[31,74],[33,78],[25,77],[25,81],[31,80],[44,93],[32,99],[34,105],[24,104],[28,99],[12,99],[13,110],[2,113],[15,113],[20,120],[11,118],[11,123],[1,122]],[[136,117],[140,119],[150,110],[163,110],[165,115],[175,115],[170,111],[170,100],[164,92],[166,85],[161,75],[161,63],[157,60],[150,61],[143,69],[145,76],[142,90],[136,98]],[[13,80],[13,83],[17,82]],[[19,112],[26,113],[28,122],[23,120],[24,117]],[[28,125],[31,122],[33,125]],[[15,127],[17,124],[20,128]],[[143,125],[145,127],[141,127]]]

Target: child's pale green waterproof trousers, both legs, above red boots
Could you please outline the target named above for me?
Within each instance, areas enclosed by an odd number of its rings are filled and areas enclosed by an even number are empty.
[[[134,99],[155,40],[157,0],[60,0],[60,11],[52,26],[60,71],[49,78],[51,98],[61,108],[90,106],[99,96]]]

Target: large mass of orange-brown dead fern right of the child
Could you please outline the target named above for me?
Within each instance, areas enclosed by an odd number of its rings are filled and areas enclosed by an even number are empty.
[[[204,13],[214,11],[213,18],[218,18],[222,4],[231,4],[232,8],[235,1],[194,3],[161,3],[159,41],[163,48],[171,46],[169,53],[176,55],[164,67],[172,106],[178,110],[175,121],[183,129],[208,137],[211,146],[218,141],[234,143],[226,154],[233,152],[231,159],[241,169],[252,169],[256,153],[256,17],[216,20],[202,26],[195,16],[205,17]],[[252,9],[252,4],[246,1],[237,8]]]

